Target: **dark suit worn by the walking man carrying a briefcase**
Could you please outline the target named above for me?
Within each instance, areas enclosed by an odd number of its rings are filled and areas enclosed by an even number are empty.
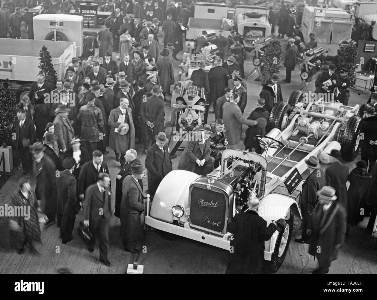
[[[97,182],[90,185],[86,190],[84,201],[84,219],[89,220],[89,231],[93,235],[93,242],[88,248],[95,246],[95,235],[100,231],[100,259],[107,260],[109,249],[109,224],[111,218],[111,189],[107,188],[100,192]],[[100,214],[99,212],[102,212]]]

